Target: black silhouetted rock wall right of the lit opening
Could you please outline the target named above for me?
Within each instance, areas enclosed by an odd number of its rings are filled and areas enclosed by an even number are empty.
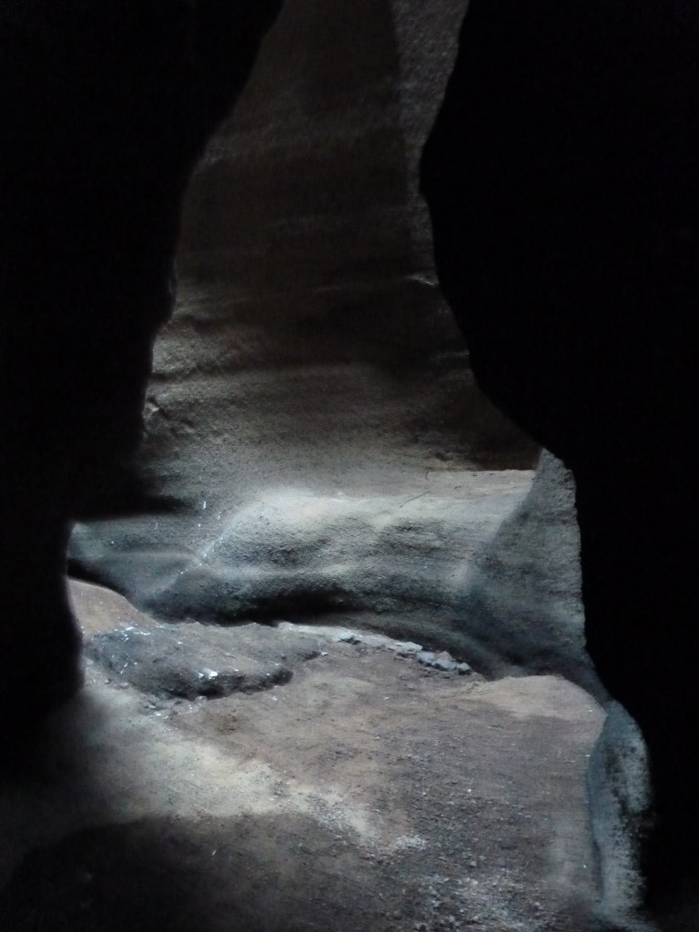
[[[687,4],[473,0],[422,164],[476,377],[575,476],[587,647],[650,746],[656,887],[699,833],[698,39]]]

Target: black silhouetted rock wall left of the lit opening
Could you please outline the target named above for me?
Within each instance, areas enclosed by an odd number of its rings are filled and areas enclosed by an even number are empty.
[[[0,3],[4,714],[79,680],[69,522],[138,440],[185,185],[280,6]]]

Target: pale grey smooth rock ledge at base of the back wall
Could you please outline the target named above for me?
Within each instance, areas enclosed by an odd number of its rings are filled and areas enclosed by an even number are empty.
[[[319,473],[315,485],[260,490],[228,514],[207,514],[207,503],[201,533],[213,539],[196,554],[177,537],[179,520],[169,527],[163,516],[167,551],[129,519],[100,528],[107,541],[77,528],[73,553],[174,621],[333,616],[447,647],[491,676],[563,673],[603,697],[583,651],[573,493],[553,458],[533,485],[531,473],[451,470],[420,476],[416,490],[408,466],[383,488],[379,474],[360,472],[350,492],[328,494]],[[152,533],[156,519],[142,520]]]

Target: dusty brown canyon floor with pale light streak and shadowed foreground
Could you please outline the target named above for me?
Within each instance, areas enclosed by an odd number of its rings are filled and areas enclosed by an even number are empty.
[[[2,932],[593,927],[584,768],[602,712],[584,692],[282,625],[196,628],[213,638],[199,678],[219,676],[209,650],[254,692],[167,697],[163,675],[153,695],[103,666],[118,637],[101,632],[171,628],[84,583],[74,599],[102,661],[4,774]],[[266,664],[291,678],[260,689]]]

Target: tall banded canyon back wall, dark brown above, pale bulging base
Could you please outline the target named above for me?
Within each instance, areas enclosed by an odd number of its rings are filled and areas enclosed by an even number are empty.
[[[482,520],[464,473],[535,457],[473,384],[418,196],[460,12],[285,4],[190,185],[139,481],[78,528],[74,572],[167,618],[455,626],[511,500]]]

